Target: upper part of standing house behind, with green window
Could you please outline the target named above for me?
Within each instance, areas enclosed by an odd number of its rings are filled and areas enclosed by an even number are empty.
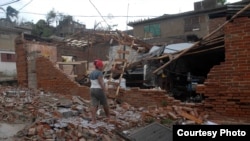
[[[133,27],[133,35],[136,38],[153,45],[195,42],[212,31],[209,14],[224,8],[217,4],[217,0],[198,1],[194,3],[193,11],[164,14],[157,18],[130,22],[128,25]],[[223,21],[217,22],[216,26]]]

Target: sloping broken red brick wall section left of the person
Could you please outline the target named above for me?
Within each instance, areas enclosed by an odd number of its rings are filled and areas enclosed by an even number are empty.
[[[54,66],[53,63],[45,57],[38,57],[36,59],[36,74],[38,88],[65,96],[76,95],[90,99],[89,87],[81,86],[71,80],[62,70]]]

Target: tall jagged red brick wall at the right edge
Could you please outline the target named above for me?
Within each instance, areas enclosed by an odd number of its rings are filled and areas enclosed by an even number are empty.
[[[250,19],[237,18],[225,28],[225,62],[214,66],[204,85],[205,108],[235,120],[250,121]]]

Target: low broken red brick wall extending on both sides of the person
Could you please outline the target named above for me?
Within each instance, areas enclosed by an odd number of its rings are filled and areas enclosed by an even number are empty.
[[[64,74],[59,68],[55,67],[53,63],[45,58],[38,57],[36,59],[36,72],[37,72],[37,86],[49,92],[59,93],[66,96],[78,95],[85,99],[89,99],[89,87],[80,86],[75,81],[72,81]],[[110,95],[115,92],[110,92]],[[148,106],[163,106],[167,105],[185,105],[188,107],[198,107],[201,109],[201,104],[186,104],[175,100],[161,90],[149,90],[131,88],[130,90],[121,89],[118,99],[127,102],[135,107],[148,107]]]

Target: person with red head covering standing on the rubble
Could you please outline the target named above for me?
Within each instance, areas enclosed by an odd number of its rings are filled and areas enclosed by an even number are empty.
[[[96,123],[96,112],[98,105],[103,106],[103,110],[106,114],[106,117],[109,119],[109,107],[107,102],[107,89],[105,87],[104,78],[103,78],[103,62],[101,60],[94,61],[95,70],[93,70],[90,75],[90,97],[91,97],[91,113],[92,121],[91,123]]]

